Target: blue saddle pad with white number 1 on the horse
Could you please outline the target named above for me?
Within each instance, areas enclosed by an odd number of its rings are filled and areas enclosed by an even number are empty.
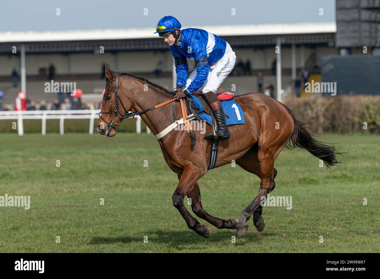
[[[194,95],[189,96],[190,99],[194,102],[194,104],[199,108],[199,111],[203,111],[203,104],[201,101],[199,101],[198,98]],[[225,101],[220,101],[223,107],[223,111],[226,113],[226,115],[229,116],[226,117],[226,124],[228,125],[233,125],[233,124],[244,124],[244,113],[241,107],[237,102],[235,102],[233,99],[225,100]],[[199,115],[200,118],[202,118],[204,121],[209,123],[210,126],[212,126],[212,118],[211,115],[207,113],[202,113]]]

